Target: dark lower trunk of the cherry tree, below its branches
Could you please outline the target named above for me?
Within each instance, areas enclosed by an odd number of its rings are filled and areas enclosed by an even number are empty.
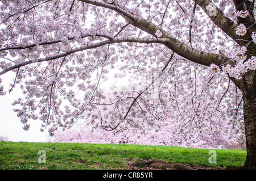
[[[256,170],[256,71],[249,71],[242,78],[243,120],[247,156],[245,169]]]

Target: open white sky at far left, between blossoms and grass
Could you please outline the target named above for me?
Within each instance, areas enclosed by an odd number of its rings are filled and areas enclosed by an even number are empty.
[[[15,106],[12,106],[14,100],[19,98],[19,94],[22,92],[19,89],[14,89],[10,94],[10,83],[13,83],[15,74],[13,72],[6,73],[1,76],[4,90],[6,95],[0,96],[0,136],[8,137],[9,141],[14,142],[48,142],[49,136],[47,132],[40,132],[41,121],[29,121],[30,129],[24,131],[23,124],[20,123],[19,117],[16,116],[16,112],[13,111]],[[17,85],[16,88],[18,88]],[[20,96],[24,96],[23,94]]]

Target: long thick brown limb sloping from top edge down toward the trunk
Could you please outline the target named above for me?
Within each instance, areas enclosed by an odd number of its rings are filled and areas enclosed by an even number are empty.
[[[162,30],[159,26],[156,26],[154,23],[149,22],[146,19],[143,19],[139,16],[130,14],[129,12],[122,10],[120,7],[109,5],[103,2],[98,1],[92,1],[92,0],[80,0],[83,2],[90,3],[92,5],[101,6],[105,8],[109,8],[112,10],[117,11],[118,13],[122,13],[122,16],[126,16],[125,19],[129,19],[129,22],[133,24],[133,26],[149,33],[152,36],[155,36],[156,30],[160,30],[163,35],[162,37],[167,37],[168,41],[165,43],[167,48],[170,48],[175,53],[179,54],[179,56],[182,56],[184,58],[187,58],[190,61],[193,61],[197,64],[210,66],[210,64],[216,64],[216,65],[225,65],[230,64],[232,65],[232,61],[229,60],[228,57],[222,55],[222,54],[216,54],[216,53],[208,53],[204,52],[202,50],[197,50],[194,48],[191,48],[187,44],[182,43],[181,41],[173,38],[170,33]],[[202,2],[199,2],[202,4]],[[207,4],[208,5],[208,4]],[[231,21],[231,20],[230,20]],[[225,22],[225,20],[224,20]],[[232,22],[234,24],[234,22]],[[235,24],[236,26],[236,24]]]

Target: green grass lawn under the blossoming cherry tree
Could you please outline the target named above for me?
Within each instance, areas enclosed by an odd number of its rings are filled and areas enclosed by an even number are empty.
[[[46,163],[38,163],[39,150]],[[220,150],[210,164],[209,149],[128,144],[0,142],[0,169],[127,169],[127,158],[161,159],[205,167],[240,167],[246,150]]]

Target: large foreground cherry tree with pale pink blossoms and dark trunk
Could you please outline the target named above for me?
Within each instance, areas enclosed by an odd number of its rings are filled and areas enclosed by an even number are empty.
[[[254,0],[4,0],[0,9],[0,76],[14,76],[9,92],[22,89],[13,105],[23,129],[41,120],[53,135],[84,119],[198,139],[245,128],[245,168],[255,169]],[[101,86],[117,69],[137,81],[110,96]]]

